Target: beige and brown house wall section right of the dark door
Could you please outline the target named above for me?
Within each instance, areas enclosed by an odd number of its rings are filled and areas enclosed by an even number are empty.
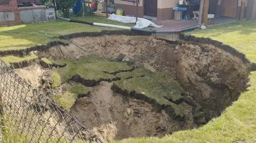
[[[169,20],[174,18],[173,7],[177,6],[179,0],[158,0],[157,1],[157,19]]]

